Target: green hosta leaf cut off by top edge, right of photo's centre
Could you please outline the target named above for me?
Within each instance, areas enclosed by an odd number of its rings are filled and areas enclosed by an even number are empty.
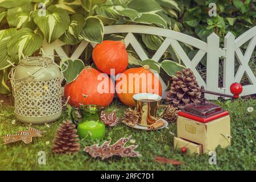
[[[131,0],[127,4],[127,7],[134,9],[139,13],[162,11],[162,7],[153,0]]]

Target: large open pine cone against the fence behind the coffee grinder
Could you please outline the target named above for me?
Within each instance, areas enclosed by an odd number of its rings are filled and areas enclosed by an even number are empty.
[[[184,109],[192,102],[200,99],[200,87],[191,69],[183,69],[183,73],[177,71],[176,77],[172,77],[171,89],[166,101],[173,107]]]

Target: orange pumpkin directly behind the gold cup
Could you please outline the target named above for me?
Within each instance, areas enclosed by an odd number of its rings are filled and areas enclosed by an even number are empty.
[[[119,100],[127,106],[135,106],[133,95],[137,93],[154,93],[162,96],[162,85],[151,73],[150,67],[130,68],[121,73],[115,84]]]

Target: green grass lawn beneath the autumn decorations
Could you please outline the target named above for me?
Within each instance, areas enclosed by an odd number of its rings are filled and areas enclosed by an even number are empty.
[[[36,129],[47,131],[43,137],[34,138],[30,144],[23,142],[3,145],[0,141],[0,169],[1,170],[255,170],[256,169],[256,100],[217,101],[228,110],[232,118],[232,146],[226,149],[218,147],[217,165],[208,163],[208,155],[183,155],[173,147],[176,134],[176,123],[171,123],[168,129],[158,131],[141,131],[130,129],[119,123],[106,130],[105,140],[112,139],[112,143],[121,137],[132,135],[131,139],[138,144],[137,151],[140,158],[120,158],[114,156],[106,160],[94,159],[82,150],[74,155],[53,155],[51,152],[52,140],[59,124],[67,117],[64,113],[57,122],[46,125],[33,125]],[[247,112],[247,107],[253,106],[253,113]],[[118,100],[115,100],[107,111],[117,109],[122,117],[126,109]],[[13,108],[0,105],[0,136],[14,134],[26,129],[29,125],[13,121]],[[46,142],[50,143],[47,145]],[[90,146],[101,141],[81,141],[82,146]],[[128,143],[131,144],[131,143]],[[82,147],[84,148],[84,147]],[[38,164],[38,152],[46,152],[46,165]],[[185,162],[181,166],[155,162],[155,155]]]

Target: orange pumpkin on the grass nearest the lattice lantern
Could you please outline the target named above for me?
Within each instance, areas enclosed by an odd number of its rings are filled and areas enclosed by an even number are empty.
[[[102,84],[104,80],[105,85]],[[103,89],[106,92],[103,92]],[[75,81],[65,85],[64,94],[66,98],[70,97],[71,106],[96,104],[105,107],[113,101],[114,84],[105,73],[92,67],[85,67]]]

